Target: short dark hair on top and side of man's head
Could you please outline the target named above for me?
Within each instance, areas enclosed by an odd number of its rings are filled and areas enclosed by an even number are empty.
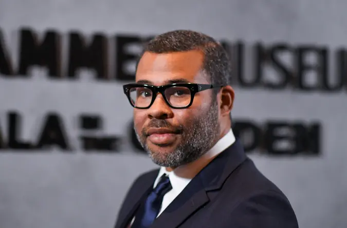
[[[230,85],[231,63],[223,46],[212,37],[192,30],[174,30],[154,37],[144,47],[144,52],[169,53],[200,50],[204,53],[203,70],[214,85]]]

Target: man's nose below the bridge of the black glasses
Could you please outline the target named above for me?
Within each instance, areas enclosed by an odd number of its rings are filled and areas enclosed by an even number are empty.
[[[172,109],[168,106],[160,93],[158,93],[152,106],[148,109],[148,117],[150,119],[170,119],[173,117]]]

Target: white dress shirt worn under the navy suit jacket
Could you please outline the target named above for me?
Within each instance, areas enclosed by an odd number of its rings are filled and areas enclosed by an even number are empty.
[[[177,167],[173,171],[169,172],[166,167],[160,167],[158,176],[154,181],[153,188],[158,184],[160,177],[163,174],[169,176],[172,189],[165,194],[162,199],[161,208],[157,217],[170,205],[170,203],[185,189],[189,182],[203,169],[213,158],[221,154],[226,148],[235,142],[235,136],[232,129],[209,150],[202,157],[196,161],[184,165],[183,167]],[[131,224],[133,224],[135,218],[133,218]]]

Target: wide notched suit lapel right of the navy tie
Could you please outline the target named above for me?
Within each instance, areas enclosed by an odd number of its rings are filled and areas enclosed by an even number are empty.
[[[236,140],[191,180],[154,221],[151,228],[176,228],[179,226],[210,201],[207,193],[220,189],[233,170],[246,158],[241,143]]]

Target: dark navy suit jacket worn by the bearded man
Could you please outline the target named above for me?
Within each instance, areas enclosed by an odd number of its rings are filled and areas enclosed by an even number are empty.
[[[138,177],[115,228],[129,226],[158,169]],[[155,220],[153,228],[298,228],[286,196],[245,155],[239,140],[210,162]]]

